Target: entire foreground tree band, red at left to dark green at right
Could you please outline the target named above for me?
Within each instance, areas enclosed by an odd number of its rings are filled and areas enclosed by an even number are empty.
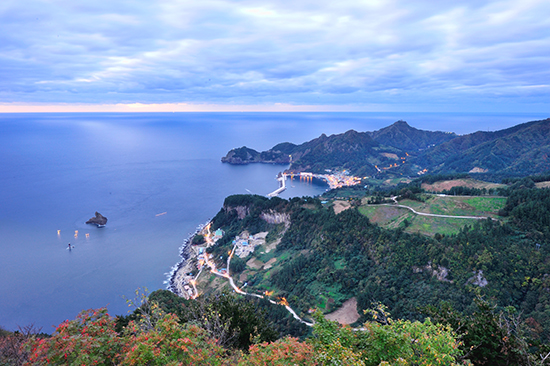
[[[359,330],[342,327],[314,314],[307,338],[281,337],[265,342],[249,336],[246,349],[228,340],[257,332],[259,312],[243,313],[250,304],[233,295],[202,300],[195,306],[197,320],[176,313],[189,312],[190,302],[167,291],[142,297],[133,319],[120,326],[105,309],[83,311],[60,324],[51,337],[36,333],[0,336],[0,361],[6,365],[542,365],[529,353],[512,308],[496,311],[477,299],[471,315],[449,304],[427,307],[433,319],[411,321],[390,316],[382,304],[368,309],[369,321]],[[229,307],[228,307],[229,306]],[[279,308],[283,309],[279,306]],[[236,311],[236,312],[235,312]],[[242,316],[246,316],[245,319]],[[185,314],[183,315],[185,316]],[[224,341],[225,340],[225,341]],[[8,353],[19,341],[17,353]],[[532,346],[532,345],[531,345]],[[544,352],[548,358],[548,352]]]

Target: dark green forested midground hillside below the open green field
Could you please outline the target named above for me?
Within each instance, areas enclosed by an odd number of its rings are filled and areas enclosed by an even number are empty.
[[[230,235],[256,233],[276,229],[258,213],[290,214],[276,264],[248,270],[247,282],[284,296],[303,316],[310,308],[330,311],[355,296],[361,309],[380,302],[398,318],[423,319],[422,308],[442,300],[472,312],[479,295],[502,308],[513,306],[529,319],[533,337],[548,342],[550,190],[520,187],[506,194],[500,220],[478,220],[452,235],[382,229],[356,208],[336,214],[316,198],[232,196],[214,223]],[[237,206],[247,207],[243,219]],[[226,258],[228,244],[211,250]]]

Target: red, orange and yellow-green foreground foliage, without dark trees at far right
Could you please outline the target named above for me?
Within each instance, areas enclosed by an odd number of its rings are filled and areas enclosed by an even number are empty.
[[[236,301],[226,295],[231,301]],[[162,299],[164,297],[161,296]],[[223,308],[216,299],[214,308]],[[105,309],[83,311],[59,325],[51,338],[23,337],[19,356],[4,358],[9,365],[458,365],[463,355],[460,341],[448,327],[424,322],[368,322],[352,331],[316,314],[313,335],[305,341],[284,337],[273,342],[251,338],[244,352],[223,347],[216,332],[232,333],[231,323],[197,324],[167,313],[165,304],[149,298],[139,315],[121,330]],[[374,311],[376,312],[376,311]],[[386,313],[382,313],[386,315]],[[254,314],[251,315],[254,317]],[[207,314],[208,317],[208,314]],[[250,319],[254,322],[254,319]],[[379,319],[380,320],[380,319]],[[225,327],[219,325],[225,324]],[[213,331],[214,330],[214,331]],[[237,331],[238,334],[238,331]],[[3,336],[14,338],[14,335]],[[0,352],[4,349],[0,342]],[[4,354],[1,354],[3,356]],[[15,361],[15,362],[13,362]]]

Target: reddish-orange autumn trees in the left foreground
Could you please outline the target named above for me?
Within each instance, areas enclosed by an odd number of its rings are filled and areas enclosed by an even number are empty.
[[[152,306],[150,319],[131,321],[122,334],[106,309],[86,310],[59,325],[51,338],[28,342],[31,365],[222,365],[225,351],[196,325]],[[153,319],[153,322],[150,320]]]

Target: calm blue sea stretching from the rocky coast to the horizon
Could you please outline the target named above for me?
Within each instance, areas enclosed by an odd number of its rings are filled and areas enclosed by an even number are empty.
[[[226,196],[266,195],[285,166],[222,164],[234,147],[266,150],[403,119],[459,134],[541,114],[0,114],[0,326],[54,326],[83,309],[126,314],[123,296],[166,288],[179,247]],[[291,183],[281,197],[323,184]],[[105,228],[86,225],[96,211]],[[59,231],[59,232],[58,232]],[[76,233],[78,231],[78,233]],[[68,250],[68,243],[74,249]]]

